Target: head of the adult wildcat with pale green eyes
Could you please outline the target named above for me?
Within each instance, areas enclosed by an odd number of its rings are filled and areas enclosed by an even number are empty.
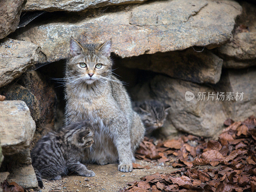
[[[103,44],[80,44],[71,38],[71,58],[66,66],[68,81],[73,84],[106,81],[112,67],[111,46],[111,39]]]

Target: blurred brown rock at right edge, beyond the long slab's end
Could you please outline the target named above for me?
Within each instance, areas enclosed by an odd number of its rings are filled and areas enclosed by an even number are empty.
[[[225,68],[247,68],[256,65],[256,6],[241,2],[243,12],[237,19],[237,27],[230,43],[218,48],[226,60]]]

